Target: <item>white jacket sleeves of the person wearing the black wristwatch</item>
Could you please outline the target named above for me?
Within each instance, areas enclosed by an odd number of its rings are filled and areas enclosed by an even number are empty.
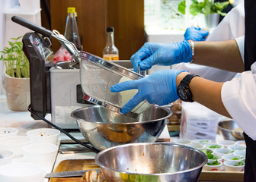
[[[240,52],[244,50],[244,38],[236,39]],[[251,71],[224,83],[221,97],[229,115],[252,140],[256,140],[256,62],[251,65]]]

